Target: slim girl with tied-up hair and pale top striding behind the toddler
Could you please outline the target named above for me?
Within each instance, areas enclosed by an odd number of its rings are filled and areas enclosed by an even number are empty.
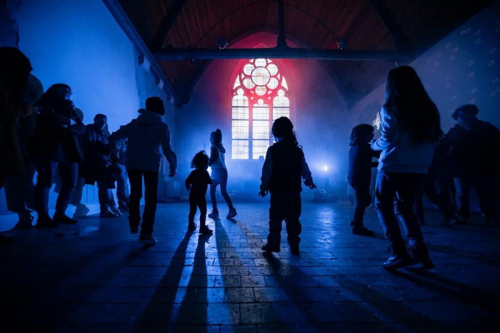
[[[217,198],[215,197],[215,189],[220,185],[220,194],[224,198],[229,212],[226,218],[232,219],[236,216],[236,209],[232,206],[231,198],[227,194],[227,169],[225,167],[225,148],[222,145],[222,132],[217,128],[215,132],[210,133],[210,159],[208,165],[212,169],[212,183],[210,184],[210,201],[212,202],[212,212],[208,217],[215,219],[218,217]]]

